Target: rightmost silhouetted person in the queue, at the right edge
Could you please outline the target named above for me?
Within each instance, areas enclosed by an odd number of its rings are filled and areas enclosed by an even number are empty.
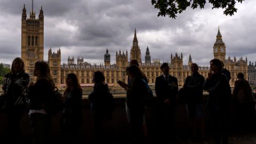
[[[234,97],[236,98],[236,125],[241,132],[250,132],[253,129],[253,115],[255,108],[255,99],[252,93],[251,86],[244,79],[243,73],[237,74],[237,81],[233,89]]]

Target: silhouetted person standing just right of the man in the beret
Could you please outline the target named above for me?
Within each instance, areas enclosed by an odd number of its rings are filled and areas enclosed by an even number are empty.
[[[191,76],[186,78],[183,89],[187,95],[187,113],[193,126],[193,139],[196,138],[197,126],[200,130],[201,140],[205,140],[205,126],[203,115],[203,84],[204,77],[198,73],[198,66],[192,63]]]

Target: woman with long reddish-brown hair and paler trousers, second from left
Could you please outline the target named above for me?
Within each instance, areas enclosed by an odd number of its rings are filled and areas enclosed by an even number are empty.
[[[54,89],[49,65],[44,61],[35,63],[36,83],[29,86],[29,119],[33,143],[50,143],[51,115],[47,114],[47,102],[51,100]]]

